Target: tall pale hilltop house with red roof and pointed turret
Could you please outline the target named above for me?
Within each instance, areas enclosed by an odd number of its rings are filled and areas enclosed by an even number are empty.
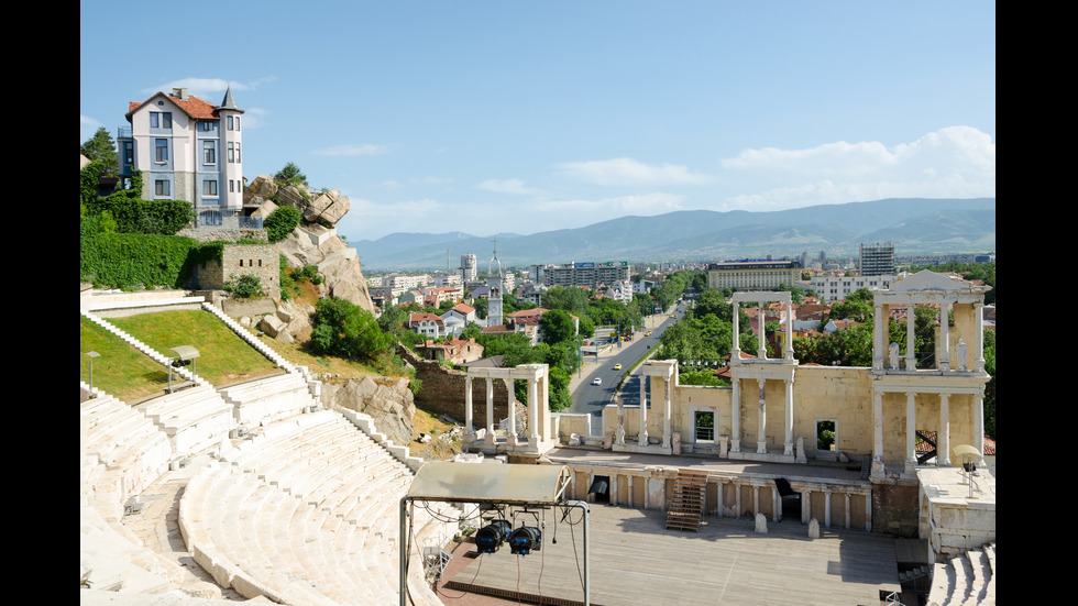
[[[186,200],[201,225],[240,227],[243,110],[228,89],[213,104],[174,88],[132,101],[117,135],[120,177],[142,172],[142,198]]]

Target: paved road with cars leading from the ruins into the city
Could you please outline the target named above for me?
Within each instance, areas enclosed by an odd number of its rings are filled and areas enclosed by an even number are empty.
[[[683,306],[679,306],[674,313],[680,315],[682,310]],[[595,362],[594,356],[586,356],[582,376],[580,378],[574,377],[573,384],[570,385],[573,406],[569,412],[591,412],[593,415],[593,433],[598,432],[602,427],[603,407],[614,400],[617,382],[622,375],[648,350],[657,346],[662,332],[675,321],[670,315],[656,316],[646,322],[647,330],[652,331],[651,337],[645,337],[645,331],[640,331],[632,337],[632,341],[623,343],[620,349],[616,344],[607,346],[600,354],[598,363]],[[657,326],[652,322],[656,322]],[[615,371],[615,364],[622,364],[622,370]],[[634,373],[622,388],[626,405],[639,404],[640,383],[638,376],[639,371]],[[596,377],[602,379],[602,385],[592,384]]]

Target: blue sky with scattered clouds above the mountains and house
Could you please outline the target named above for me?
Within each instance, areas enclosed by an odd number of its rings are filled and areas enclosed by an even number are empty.
[[[996,4],[80,4],[79,143],[186,86],[351,241],[996,196]],[[627,235],[628,236],[628,235]]]

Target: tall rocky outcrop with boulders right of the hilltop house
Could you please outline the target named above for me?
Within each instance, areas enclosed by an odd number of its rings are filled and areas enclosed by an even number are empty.
[[[327,295],[374,311],[360,257],[337,234],[336,225],[350,208],[348,196],[337,190],[311,192],[302,185],[280,187],[270,175],[261,175],[244,190],[243,202],[257,206],[256,212],[262,217],[268,217],[278,205],[299,209],[302,212],[299,227],[277,243],[288,264],[317,265],[326,276]]]

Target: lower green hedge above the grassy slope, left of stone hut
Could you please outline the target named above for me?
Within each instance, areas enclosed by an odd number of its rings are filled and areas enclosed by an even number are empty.
[[[79,280],[109,288],[183,288],[196,265],[220,261],[222,251],[221,242],[201,244],[176,235],[84,235],[79,242]]]

